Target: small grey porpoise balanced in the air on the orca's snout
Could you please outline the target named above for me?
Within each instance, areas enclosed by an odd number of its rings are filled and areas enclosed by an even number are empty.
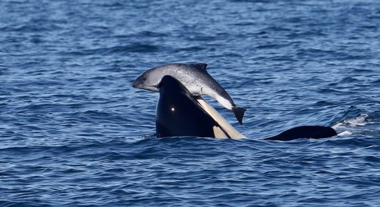
[[[178,79],[192,95],[207,95],[222,106],[232,110],[239,124],[243,124],[245,108],[237,107],[227,91],[209,75],[206,63],[170,63],[146,70],[133,82],[134,88],[158,92],[162,77],[170,75]]]

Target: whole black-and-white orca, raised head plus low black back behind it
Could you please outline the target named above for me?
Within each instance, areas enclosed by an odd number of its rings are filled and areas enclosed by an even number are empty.
[[[158,137],[215,137],[245,139],[202,97],[194,96],[177,79],[162,77],[157,86],[160,98],[156,108],[155,128]],[[267,140],[321,139],[333,137],[336,131],[325,126],[298,126]]]

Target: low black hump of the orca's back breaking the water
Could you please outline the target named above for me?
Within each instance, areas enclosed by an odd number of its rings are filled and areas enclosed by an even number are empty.
[[[321,139],[333,137],[336,131],[327,126],[298,126],[282,132],[274,137],[268,137],[269,140],[290,141],[299,138]]]

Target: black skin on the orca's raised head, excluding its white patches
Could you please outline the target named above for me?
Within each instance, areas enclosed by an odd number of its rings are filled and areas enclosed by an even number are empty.
[[[220,126],[180,81],[164,76],[158,89],[160,99],[155,118],[158,137],[215,137],[213,126]]]

